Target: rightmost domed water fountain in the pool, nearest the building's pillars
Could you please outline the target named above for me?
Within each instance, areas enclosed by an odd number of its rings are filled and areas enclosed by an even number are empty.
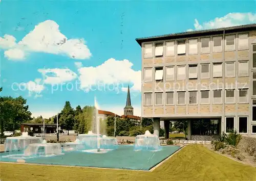
[[[144,135],[137,135],[135,138],[134,150],[161,150],[158,136],[151,134],[148,130],[145,131]]]

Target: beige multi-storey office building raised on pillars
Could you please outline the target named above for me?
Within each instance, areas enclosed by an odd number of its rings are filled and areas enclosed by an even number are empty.
[[[138,38],[142,117],[210,119],[217,132],[256,134],[256,24]],[[217,133],[216,132],[216,133]],[[193,133],[192,133],[193,134]],[[168,134],[166,134],[168,137]]]

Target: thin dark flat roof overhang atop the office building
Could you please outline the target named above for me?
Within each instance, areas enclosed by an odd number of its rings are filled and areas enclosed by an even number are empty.
[[[225,31],[225,33],[233,33],[233,32],[238,32],[238,31],[250,31],[250,30],[256,30],[256,23],[238,25],[238,26],[234,26],[234,27],[209,29],[209,30],[198,30],[198,31],[187,31],[187,32],[166,34],[166,35],[160,35],[160,36],[136,38],[135,40],[141,46],[141,44],[143,42],[149,42],[149,41],[187,38],[187,37],[195,37],[195,36],[207,36],[207,35],[212,35],[212,34],[222,34],[224,31]]]

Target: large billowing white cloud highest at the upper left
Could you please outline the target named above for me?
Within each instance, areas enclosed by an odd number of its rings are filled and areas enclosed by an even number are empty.
[[[15,40],[13,36],[5,35],[0,39],[0,47],[5,49],[15,47],[25,53],[42,52],[67,55],[72,59],[88,59],[92,55],[83,39],[68,39],[60,33],[59,25],[53,20],[40,22],[21,41],[15,43]],[[11,51],[8,58],[17,59],[17,56]]]

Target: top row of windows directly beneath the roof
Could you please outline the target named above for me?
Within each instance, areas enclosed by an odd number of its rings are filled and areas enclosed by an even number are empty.
[[[231,51],[236,50],[236,43],[238,44],[238,49],[248,49],[249,48],[249,35],[239,34],[236,42],[236,35],[226,35],[225,36],[225,50]],[[207,38],[200,38],[198,42],[198,38],[189,39],[188,40],[188,55],[198,54],[199,48],[200,53],[210,53],[210,42],[212,42],[212,52],[220,52],[223,51],[223,37],[216,36]],[[166,41],[165,45],[163,42],[155,43],[146,43],[144,44],[144,58],[152,58],[153,57],[153,47],[155,47],[154,56],[162,57],[164,55],[164,47],[165,47],[165,55],[166,56],[175,56],[176,51],[177,55],[185,55],[186,54],[186,40],[178,40],[177,48],[175,46],[175,41]]]

